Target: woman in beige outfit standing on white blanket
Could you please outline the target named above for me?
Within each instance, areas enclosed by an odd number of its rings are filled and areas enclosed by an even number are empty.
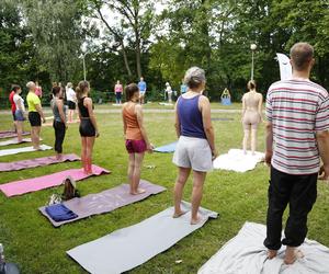
[[[253,80],[250,80],[247,87],[249,92],[245,93],[242,96],[242,125],[245,130],[242,145],[243,151],[247,153],[247,144],[251,132],[251,152],[254,155],[258,124],[262,121],[263,96],[256,91],[256,82]]]

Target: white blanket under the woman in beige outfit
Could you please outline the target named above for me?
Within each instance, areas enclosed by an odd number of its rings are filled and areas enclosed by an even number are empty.
[[[253,170],[256,165],[264,160],[264,153],[247,151],[245,155],[241,149],[230,149],[228,153],[218,156],[213,164],[214,169],[246,172]]]

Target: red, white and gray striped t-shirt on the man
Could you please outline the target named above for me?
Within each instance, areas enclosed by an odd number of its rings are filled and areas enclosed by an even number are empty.
[[[317,173],[316,132],[329,129],[328,92],[308,80],[275,82],[268,91],[266,117],[273,127],[273,168],[287,174]]]

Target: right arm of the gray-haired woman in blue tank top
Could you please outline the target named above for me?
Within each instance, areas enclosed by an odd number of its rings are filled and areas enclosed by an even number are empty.
[[[215,147],[215,133],[212,123],[209,100],[206,96],[202,95],[198,101],[198,106],[202,113],[204,132],[212,149],[213,157],[217,157],[218,152]]]

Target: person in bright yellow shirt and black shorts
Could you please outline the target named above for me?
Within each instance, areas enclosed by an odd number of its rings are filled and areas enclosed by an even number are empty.
[[[31,124],[31,139],[33,148],[39,150],[39,133],[42,119],[43,123],[46,123],[46,118],[42,109],[41,100],[35,94],[35,83],[30,81],[26,83],[29,93],[26,96],[27,106],[29,106],[29,121]]]

